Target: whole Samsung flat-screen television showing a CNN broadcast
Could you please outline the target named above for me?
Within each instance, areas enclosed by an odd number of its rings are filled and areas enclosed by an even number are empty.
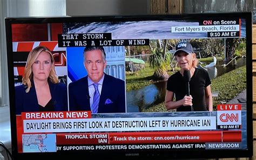
[[[251,13],[5,26],[16,159],[252,156]]]

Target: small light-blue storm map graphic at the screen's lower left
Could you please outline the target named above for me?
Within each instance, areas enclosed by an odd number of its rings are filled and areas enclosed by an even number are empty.
[[[22,135],[23,152],[56,152],[56,134]]]

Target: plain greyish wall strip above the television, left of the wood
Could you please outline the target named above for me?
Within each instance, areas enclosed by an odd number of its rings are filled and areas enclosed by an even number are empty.
[[[147,15],[149,0],[66,0],[66,15]]]

